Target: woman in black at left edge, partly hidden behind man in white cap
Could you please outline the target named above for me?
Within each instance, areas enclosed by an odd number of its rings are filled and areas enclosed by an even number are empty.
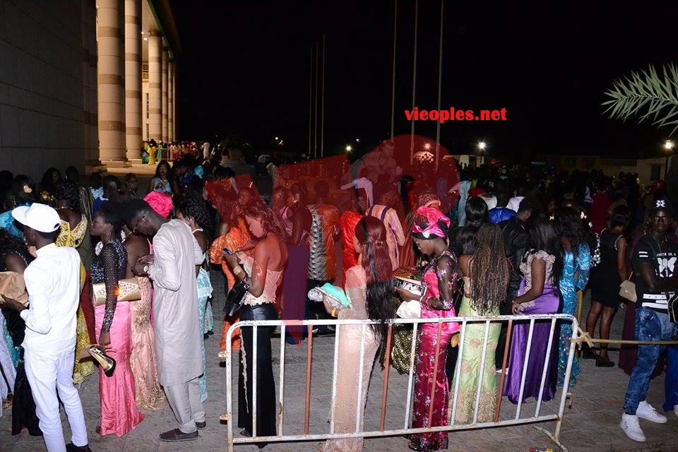
[[[0,271],[13,271],[23,275],[23,271],[32,261],[25,244],[6,230],[0,229]],[[12,342],[19,349],[19,362],[16,366],[12,403],[12,434],[17,435],[25,427],[31,436],[42,436],[39,420],[35,415],[35,401],[23,366],[23,337],[26,324],[14,309],[2,308],[7,321],[7,330]],[[1,338],[0,338],[1,340]]]

